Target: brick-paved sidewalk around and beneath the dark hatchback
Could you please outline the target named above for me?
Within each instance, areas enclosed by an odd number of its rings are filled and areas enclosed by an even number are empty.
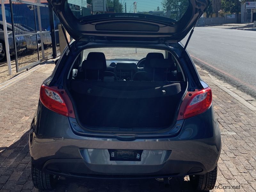
[[[38,191],[30,174],[28,130],[38,102],[39,87],[54,65],[48,64],[19,82],[0,90],[0,190]],[[217,185],[240,186],[225,191],[256,191],[256,113],[220,90],[202,70],[202,78],[211,86],[213,104],[222,134]],[[60,178],[55,191],[189,191],[189,181],[148,180],[75,180]],[[223,189],[214,189],[224,191]]]

